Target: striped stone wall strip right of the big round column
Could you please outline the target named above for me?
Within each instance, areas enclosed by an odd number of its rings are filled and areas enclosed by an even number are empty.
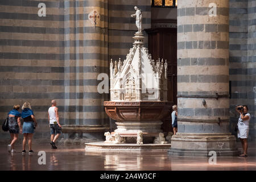
[[[229,0],[230,129],[238,121],[234,110],[247,105],[251,114],[249,140],[255,140],[256,1]]]

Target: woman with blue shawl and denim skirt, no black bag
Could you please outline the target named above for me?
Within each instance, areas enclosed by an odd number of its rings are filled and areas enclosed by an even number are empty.
[[[32,137],[34,133],[35,127],[38,125],[36,122],[35,115],[31,109],[30,102],[25,102],[22,106],[22,114],[23,118],[23,151],[22,154],[26,154],[26,144],[28,141],[28,154],[32,154]]]

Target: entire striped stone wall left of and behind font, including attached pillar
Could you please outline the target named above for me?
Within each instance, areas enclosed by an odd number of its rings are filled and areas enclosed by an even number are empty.
[[[38,16],[39,3],[45,3],[46,16]],[[48,141],[47,110],[55,99],[62,125],[109,126],[103,106],[108,94],[98,93],[97,76],[108,74],[110,57],[124,59],[132,47],[134,6],[143,11],[143,28],[150,28],[147,0],[0,1],[0,124],[13,105],[29,101],[39,122],[34,138]],[[95,27],[88,19],[94,10],[100,14]],[[0,131],[0,137],[9,134]]]

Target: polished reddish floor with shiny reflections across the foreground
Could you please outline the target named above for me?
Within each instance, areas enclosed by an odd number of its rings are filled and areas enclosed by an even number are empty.
[[[241,144],[238,143],[241,150]],[[16,150],[21,151],[17,144]],[[34,145],[32,155],[21,152],[9,154],[7,145],[0,147],[0,170],[256,170],[255,142],[249,143],[249,156],[217,157],[217,164],[209,158],[169,156],[167,152],[86,152],[84,146]],[[39,164],[39,151],[46,152],[46,164]],[[40,159],[39,159],[40,158]],[[39,162],[38,162],[39,161]]]

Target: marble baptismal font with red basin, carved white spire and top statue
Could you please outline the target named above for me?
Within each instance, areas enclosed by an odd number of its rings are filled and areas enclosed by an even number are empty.
[[[173,103],[167,101],[167,61],[151,59],[143,46],[141,10],[136,6],[134,9],[136,13],[131,17],[136,18],[138,32],[126,59],[110,61],[110,101],[104,106],[117,125],[113,138],[120,143],[137,138],[137,144],[143,144],[152,143],[162,132],[161,119],[170,114]],[[108,137],[105,142],[112,140]]]

